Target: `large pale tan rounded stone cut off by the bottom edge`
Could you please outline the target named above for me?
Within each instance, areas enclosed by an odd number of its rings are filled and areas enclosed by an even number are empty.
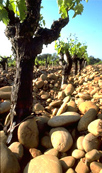
[[[62,173],[62,167],[56,156],[44,154],[32,159],[24,169],[23,173]]]

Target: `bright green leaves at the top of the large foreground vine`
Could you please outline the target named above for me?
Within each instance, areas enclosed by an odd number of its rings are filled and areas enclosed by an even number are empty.
[[[82,0],[57,0],[59,13],[62,18],[68,17],[68,11],[73,10],[74,16],[81,14],[83,12],[83,4]],[[88,0],[85,0],[88,2]],[[19,17],[22,22],[26,18],[26,3],[25,0],[0,0],[0,21],[3,21],[4,24],[9,23],[9,17],[6,8],[12,10],[16,17]],[[42,7],[41,7],[42,8]],[[40,24],[45,25],[45,20],[43,20],[43,16],[40,16]]]

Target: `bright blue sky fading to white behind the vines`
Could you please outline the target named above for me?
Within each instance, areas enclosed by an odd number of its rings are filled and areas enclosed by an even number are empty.
[[[88,46],[88,56],[94,56],[102,60],[102,0],[83,1],[84,11],[82,15],[72,18],[73,11],[69,12],[69,23],[61,31],[61,39],[66,41],[70,33],[78,37],[78,41]],[[41,10],[46,25],[50,28],[53,21],[60,18],[56,0],[42,0]],[[12,55],[10,41],[4,34],[5,25],[0,22],[0,55]],[[47,47],[43,46],[42,53],[55,53],[55,42]]]

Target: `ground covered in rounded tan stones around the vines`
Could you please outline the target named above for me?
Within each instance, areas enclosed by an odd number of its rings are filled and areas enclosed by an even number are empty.
[[[102,173],[102,65],[89,65],[61,86],[60,67],[36,70],[33,111],[7,144],[15,70],[0,75],[0,172]]]

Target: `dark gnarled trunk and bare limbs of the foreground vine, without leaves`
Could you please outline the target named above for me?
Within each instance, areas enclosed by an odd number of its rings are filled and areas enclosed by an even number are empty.
[[[27,16],[19,19],[8,10],[10,22],[6,27],[6,36],[12,44],[16,58],[16,76],[11,96],[11,124],[14,116],[16,123],[29,116],[32,111],[32,79],[35,57],[42,52],[43,44],[57,40],[61,29],[69,18],[53,22],[50,29],[39,27],[41,0],[26,0]]]

